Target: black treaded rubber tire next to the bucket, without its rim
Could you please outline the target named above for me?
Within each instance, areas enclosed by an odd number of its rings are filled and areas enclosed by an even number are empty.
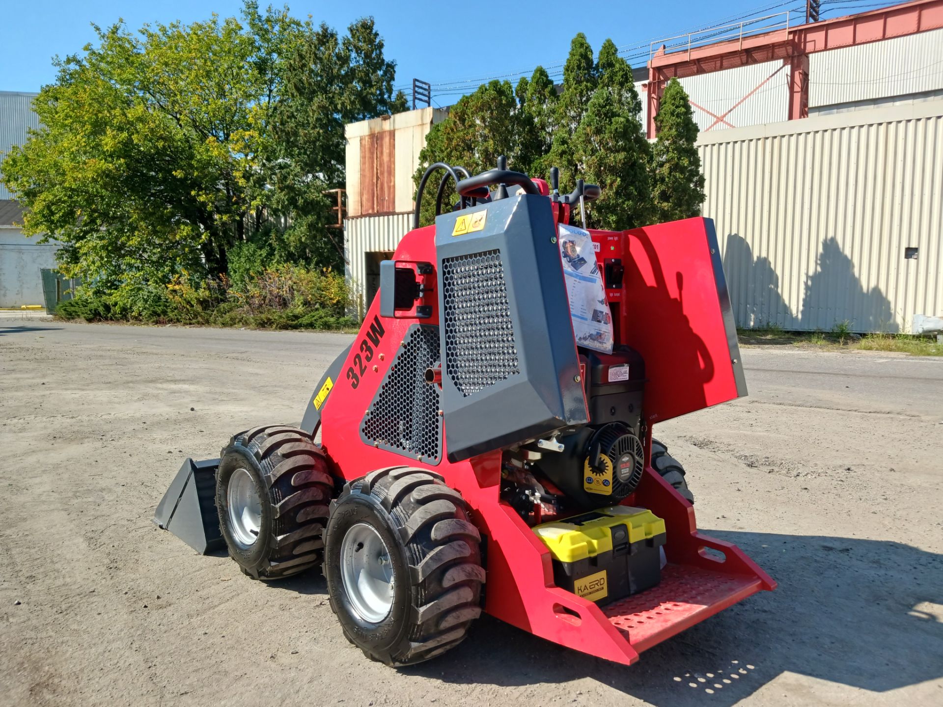
[[[258,538],[247,550],[229,524],[226,489],[236,469],[249,472],[262,508]],[[216,476],[216,508],[229,556],[256,580],[278,580],[319,566],[333,491],[323,452],[306,432],[267,425],[233,436],[220,452]]]

